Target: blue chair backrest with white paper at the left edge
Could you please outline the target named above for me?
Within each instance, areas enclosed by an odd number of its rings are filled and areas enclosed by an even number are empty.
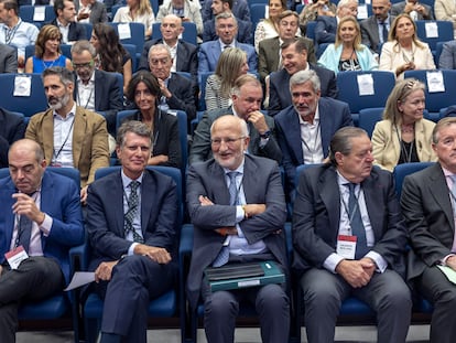
[[[28,90],[22,85],[28,83],[28,81],[21,83],[19,82],[20,77],[30,78],[29,96],[22,96]],[[14,86],[17,82],[18,86]],[[0,107],[13,111],[20,109],[26,117],[47,109],[47,99],[44,94],[41,74],[0,74],[0,85],[2,87]]]

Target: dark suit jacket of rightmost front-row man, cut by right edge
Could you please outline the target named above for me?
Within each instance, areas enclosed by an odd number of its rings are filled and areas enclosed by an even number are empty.
[[[425,267],[450,254],[455,223],[448,185],[439,163],[405,176],[402,213],[409,227],[408,278],[421,276]]]

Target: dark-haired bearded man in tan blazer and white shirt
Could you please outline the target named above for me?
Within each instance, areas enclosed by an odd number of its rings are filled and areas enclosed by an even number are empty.
[[[36,141],[46,161],[54,167],[76,168],[80,172],[80,201],[95,171],[109,165],[108,131],[105,118],[73,100],[74,75],[63,67],[43,72],[44,93],[50,109],[30,118],[25,138]]]

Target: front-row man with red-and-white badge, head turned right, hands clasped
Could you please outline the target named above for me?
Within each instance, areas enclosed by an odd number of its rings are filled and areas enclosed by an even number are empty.
[[[302,172],[294,203],[307,341],[334,342],[340,304],[356,297],[377,313],[377,342],[405,342],[412,300],[393,176],[372,168],[372,144],[359,128],[334,135],[329,160]]]

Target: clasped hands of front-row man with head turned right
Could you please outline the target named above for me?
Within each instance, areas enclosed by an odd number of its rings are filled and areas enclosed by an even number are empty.
[[[343,259],[336,267],[336,272],[340,275],[352,288],[360,288],[369,283],[376,264],[370,259],[348,260]]]

